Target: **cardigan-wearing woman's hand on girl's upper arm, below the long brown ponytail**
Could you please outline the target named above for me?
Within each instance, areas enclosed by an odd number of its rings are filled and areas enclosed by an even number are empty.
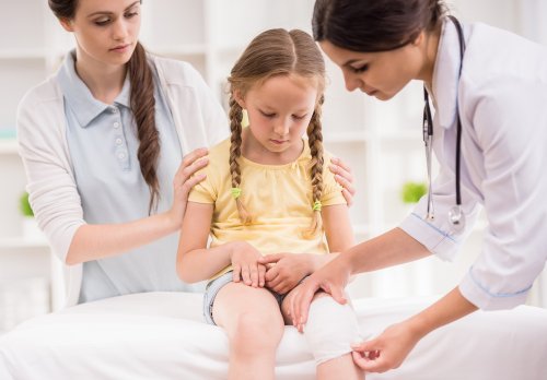
[[[173,205],[167,212],[173,230],[181,229],[183,225],[186,203],[191,188],[205,179],[205,175],[194,177],[193,175],[207,166],[209,163],[207,154],[208,151],[205,147],[188,153],[183,157],[183,162],[176,170],[175,177],[173,178]]]

